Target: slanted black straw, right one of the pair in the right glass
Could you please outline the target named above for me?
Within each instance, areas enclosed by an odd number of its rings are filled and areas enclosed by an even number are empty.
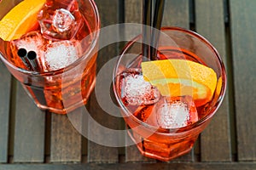
[[[158,42],[160,37],[160,28],[161,28],[162,19],[163,19],[165,3],[166,3],[166,0],[155,1],[154,20],[153,20],[153,27],[155,29],[152,31],[152,36],[150,40],[151,42],[150,56],[152,60],[156,59],[156,55],[157,55]]]

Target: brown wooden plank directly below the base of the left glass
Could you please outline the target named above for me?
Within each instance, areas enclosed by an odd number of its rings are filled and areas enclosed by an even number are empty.
[[[79,114],[76,111],[68,114]],[[67,115],[51,115],[50,162],[81,161],[82,138]]]

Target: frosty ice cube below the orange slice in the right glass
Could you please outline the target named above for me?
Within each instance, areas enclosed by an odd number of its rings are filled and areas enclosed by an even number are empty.
[[[198,121],[193,99],[189,96],[165,98],[154,106],[154,114],[158,127],[161,128],[178,128],[185,127]],[[148,123],[155,123],[150,119]]]

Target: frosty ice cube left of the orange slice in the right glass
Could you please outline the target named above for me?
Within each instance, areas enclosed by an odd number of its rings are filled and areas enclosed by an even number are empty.
[[[160,99],[158,89],[144,81],[139,69],[123,72],[120,86],[125,105],[152,105]]]

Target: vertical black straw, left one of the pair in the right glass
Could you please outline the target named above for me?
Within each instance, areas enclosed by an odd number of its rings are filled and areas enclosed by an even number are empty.
[[[150,59],[152,0],[143,0],[143,56]]]

